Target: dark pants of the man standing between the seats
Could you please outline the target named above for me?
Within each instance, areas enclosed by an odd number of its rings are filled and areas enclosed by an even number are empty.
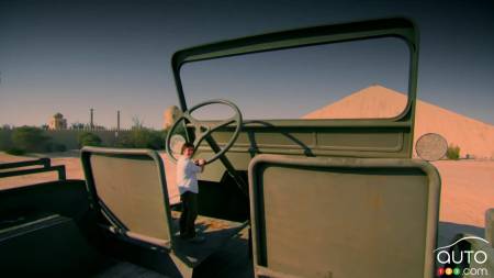
[[[180,237],[192,238],[195,236],[195,218],[198,218],[198,194],[184,192],[180,196],[182,201],[182,214],[180,215]]]

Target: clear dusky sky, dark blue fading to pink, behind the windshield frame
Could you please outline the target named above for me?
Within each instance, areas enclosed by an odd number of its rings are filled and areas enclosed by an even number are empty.
[[[494,1],[481,0],[2,0],[0,124],[41,125],[55,112],[61,112],[69,123],[86,123],[89,109],[94,108],[98,124],[114,126],[116,110],[121,110],[124,126],[138,116],[145,125],[159,127],[162,111],[178,103],[170,68],[171,55],[178,49],[279,30],[396,15],[414,20],[420,30],[419,98],[494,124],[493,14]],[[382,49],[378,54],[385,59],[401,52]],[[325,49],[314,49],[228,62],[232,64],[203,64],[184,69],[186,94],[194,104],[217,97],[214,90],[223,90],[220,96],[227,98],[231,92],[224,88],[232,88],[237,90],[233,100],[242,101],[240,108],[259,113],[271,109],[268,115],[283,118],[285,110],[272,109],[273,102],[290,96],[291,102],[305,103],[301,91],[326,93],[324,82],[334,81],[304,75],[305,68],[322,73],[330,66],[347,65],[335,58],[337,55],[324,54]],[[293,59],[292,64],[285,64],[285,59]],[[209,65],[218,69],[211,70]],[[232,65],[237,65],[235,70]],[[383,68],[388,71],[382,75],[393,76],[403,65]],[[362,67],[357,75],[366,77],[374,71]],[[245,79],[238,82],[238,76]],[[301,76],[307,82],[291,81]],[[335,76],[334,71],[328,76]],[[366,87],[368,81],[362,78],[352,82],[349,77],[338,80],[346,86],[333,87],[333,97],[310,104],[321,107],[341,91],[350,93]],[[400,90],[400,82],[390,81],[390,87]],[[268,88],[269,96],[259,86]],[[191,96],[188,90],[197,92]]]

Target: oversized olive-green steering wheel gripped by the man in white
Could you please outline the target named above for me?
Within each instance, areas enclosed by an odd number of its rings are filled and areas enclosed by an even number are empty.
[[[229,108],[233,109],[233,111],[235,112],[235,114],[227,119],[224,120],[222,122],[220,122],[218,124],[214,125],[214,126],[210,126],[207,124],[204,124],[204,121],[200,121],[197,120],[195,118],[193,118],[191,115],[191,113],[202,107],[205,105],[210,105],[210,104],[224,104],[224,105],[228,105]],[[194,145],[194,149],[197,149],[199,147],[199,145],[201,144],[201,142],[203,140],[213,140],[213,137],[211,136],[211,133],[215,132],[216,130],[224,127],[228,124],[235,123],[236,127],[234,131],[234,134],[232,135],[231,140],[228,141],[228,143],[226,144],[226,146],[224,146],[223,148],[220,149],[220,152],[217,152],[213,157],[209,158],[205,160],[205,164],[210,164],[213,163],[214,160],[216,160],[217,158],[220,158],[221,156],[223,156],[235,143],[235,141],[237,140],[238,135],[240,134],[240,129],[242,129],[242,113],[240,110],[238,109],[237,105],[235,105],[233,102],[228,101],[228,100],[223,100],[223,99],[214,99],[214,100],[209,100],[209,101],[204,101],[201,102],[199,104],[197,104],[195,107],[184,111],[179,119],[177,119],[177,121],[173,123],[173,125],[171,126],[170,131],[167,134],[167,142],[166,142],[166,151],[167,151],[167,155],[168,157],[170,157],[170,159],[173,163],[177,163],[177,158],[173,156],[173,152],[171,151],[170,147],[170,142],[171,142],[171,136],[173,135],[175,131],[177,130],[177,127],[179,126],[179,123],[181,121],[189,121],[189,123],[192,125],[192,127],[194,127],[194,142],[192,143]],[[186,123],[187,124],[187,123]],[[190,125],[188,125],[190,126]]]

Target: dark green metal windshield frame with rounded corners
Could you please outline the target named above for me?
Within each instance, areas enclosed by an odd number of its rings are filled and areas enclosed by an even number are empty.
[[[418,69],[418,31],[414,22],[408,19],[394,18],[369,20],[353,23],[343,23],[335,25],[313,26],[274,33],[267,33],[217,43],[211,43],[178,51],[171,58],[171,67],[177,87],[180,109],[188,110],[182,80],[180,76],[181,67],[184,64],[217,59],[231,56],[247,55],[254,53],[272,52],[288,48],[306,47],[313,45],[334,44],[350,41],[362,41],[380,37],[397,37],[404,40],[409,51],[408,90],[405,109],[396,116],[390,119],[315,119],[315,120],[271,120],[279,124],[290,121],[295,124],[297,121],[369,121],[389,120],[411,121],[415,118],[415,100],[417,89]],[[269,120],[268,120],[269,121]],[[294,122],[295,121],[295,122]],[[363,122],[362,122],[363,123]],[[321,123],[319,123],[321,124]]]

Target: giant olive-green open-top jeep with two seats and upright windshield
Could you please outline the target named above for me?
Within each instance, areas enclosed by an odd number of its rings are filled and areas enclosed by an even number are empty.
[[[382,37],[402,40],[409,54],[407,102],[394,118],[248,120],[242,103],[186,98],[186,64]],[[60,175],[0,191],[2,276],[435,277],[440,177],[412,158],[418,34],[411,21],[206,44],[177,52],[171,66],[180,111],[166,152],[85,147],[85,180]],[[233,115],[194,115],[210,105]],[[201,244],[178,236],[180,202],[167,179],[183,142],[207,160],[199,181]],[[0,177],[29,174],[19,169],[27,164],[2,165]],[[36,171],[60,170],[41,166]]]

